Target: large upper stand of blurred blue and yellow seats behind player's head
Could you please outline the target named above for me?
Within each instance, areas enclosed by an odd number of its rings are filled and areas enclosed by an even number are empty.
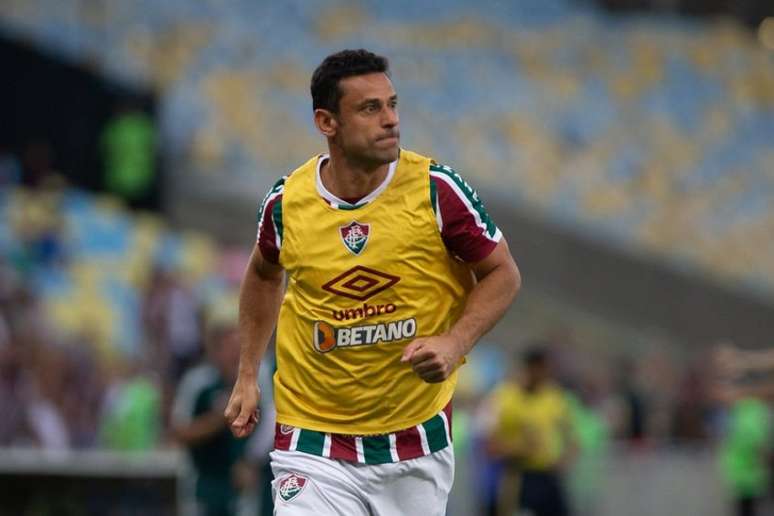
[[[491,196],[766,297],[774,287],[762,243],[774,67],[731,22],[611,18],[563,0],[442,13],[408,1],[6,5],[5,30],[155,84],[176,168],[232,195],[319,150],[309,70],[365,45],[394,58],[406,145]]]

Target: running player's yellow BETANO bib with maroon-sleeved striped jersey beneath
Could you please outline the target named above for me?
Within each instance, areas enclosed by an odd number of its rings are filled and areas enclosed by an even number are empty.
[[[298,449],[321,455],[326,442],[333,450],[352,442],[355,454],[343,454],[360,460],[360,443],[369,463],[413,455],[397,442],[418,435],[425,445],[408,449],[430,453],[426,431],[448,432],[432,422],[444,420],[457,372],[426,383],[400,357],[411,340],[443,334],[459,318],[474,284],[465,262],[491,253],[500,231],[477,193],[429,158],[402,150],[383,183],[359,200],[325,188],[326,159],[280,180],[260,210],[261,253],[288,275],[276,337],[277,447],[290,446],[292,437],[282,436],[291,434]],[[395,453],[366,452],[374,442],[388,451],[396,443]]]

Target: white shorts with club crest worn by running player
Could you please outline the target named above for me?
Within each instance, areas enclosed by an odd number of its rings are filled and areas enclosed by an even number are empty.
[[[271,452],[277,516],[443,516],[454,480],[451,446],[388,464]]]

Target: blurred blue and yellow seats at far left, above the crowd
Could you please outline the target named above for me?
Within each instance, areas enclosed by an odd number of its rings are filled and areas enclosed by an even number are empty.
[[[208,237],[171,231],[110,197],[12,189],[2,211],[4,257],[28,271],[59,330],[90,333],[107,353],[143,352],[141,296],[154,271],[179,275],[205,305],[228,294]]]

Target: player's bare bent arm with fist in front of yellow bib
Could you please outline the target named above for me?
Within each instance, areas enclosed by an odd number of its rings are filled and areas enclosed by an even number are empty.
[[[521,275],[503,237],[494,250],[471,264],[477,282],[465,309],[448,333],[422,337],[403,350],[401,362],[410,363],[428,383],[446,380],[478,339],[500,320],[521,287]]]

